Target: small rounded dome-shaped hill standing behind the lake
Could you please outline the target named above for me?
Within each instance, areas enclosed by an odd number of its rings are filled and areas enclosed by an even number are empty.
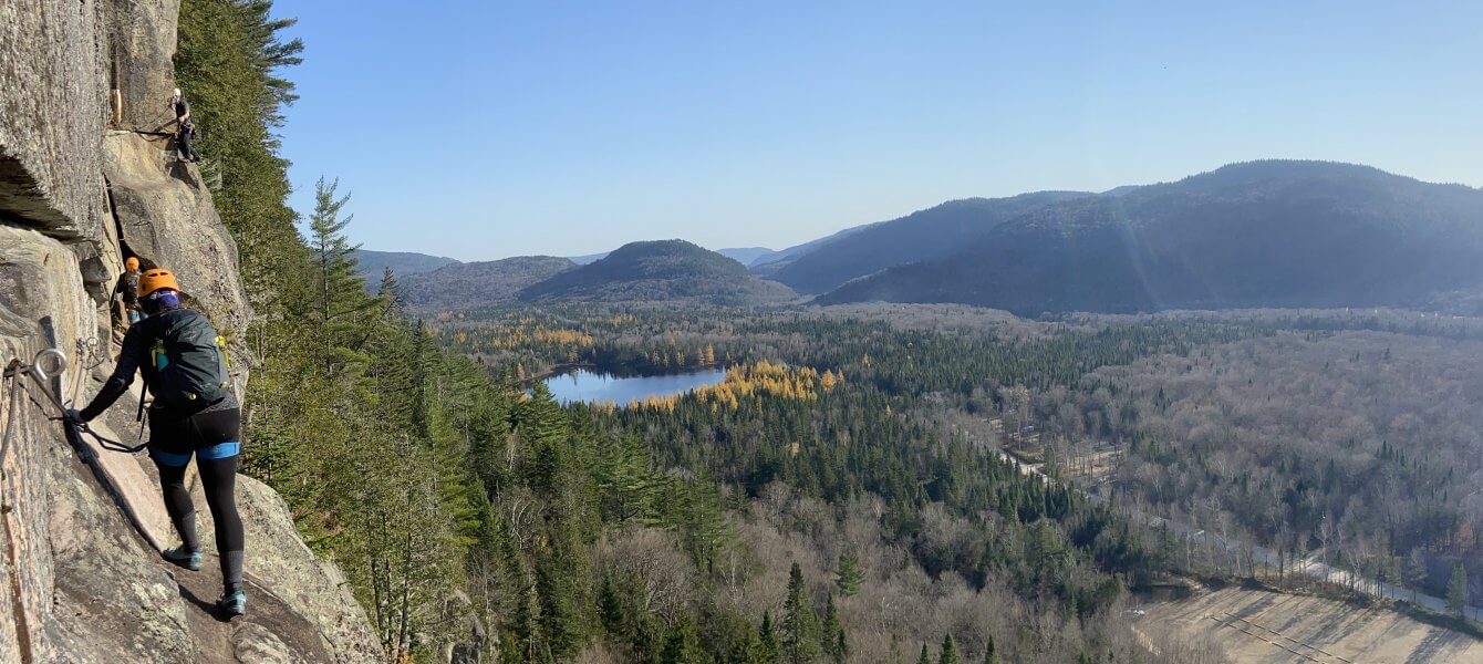
[[[777,304],[793,292],[684,240],[635,242],[519,292],[523,302]]]

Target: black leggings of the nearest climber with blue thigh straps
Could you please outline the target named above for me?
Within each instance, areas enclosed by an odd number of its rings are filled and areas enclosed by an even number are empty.
[[[240,411],[236,408],[203,412],[176,419],[150,416],[150,456],[160,471],[165,511],[188,551],[200,550],[196,535],[196,505],[185,489],[185,470],[196,456],[200,485],[206,492],[206,507],[217,525],[217,553],[221,557],[221,578],[227,593],[242,590],[242,516],[237,514],[237,428]],[[230,455],[225,455],[230,452]]]

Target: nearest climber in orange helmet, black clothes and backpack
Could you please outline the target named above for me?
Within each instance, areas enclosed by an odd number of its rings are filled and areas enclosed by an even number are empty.
[[[185,489],[185,468],[194,456],[206,507],[217,526],[222,578],[217,606],[227,617],[242,615],[248,606],[242,585],[242,517],[236,502],[242,414],[221,338],[205,314],[181,305],[181,288],[169,270],[147,270],[139,276],[138,292],[145,319],[125,333],[119,363],[98,396],[87,408],[68,411],[68,416],[83,422],[96,418],[129,390],[135,372],[144,375],[145,388],[154,397],[150,458],[160,471],[165,508],[181,537],[181,544],[166,548],[163,556],[182,568],[200,569],[196,505]]]

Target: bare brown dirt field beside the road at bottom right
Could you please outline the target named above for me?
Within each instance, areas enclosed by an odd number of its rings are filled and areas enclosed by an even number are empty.
[[[1483,640],[1321,597],[1225,588],[1143,609],[1145,630],[1215,642],[1243,664],[1483,663]]]

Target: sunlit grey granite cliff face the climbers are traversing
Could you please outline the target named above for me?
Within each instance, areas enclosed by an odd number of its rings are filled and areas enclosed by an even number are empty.
[[[64,351],[71,366],[52,388],[65,399],[89,397],[111,369],[108,296],[125,252],[174,270],[228,338],[252,317],[211,193],[156,133],[169,119],[178,9],[0,3],[0,362]],[[252,600],[246,617],[218,621],[215,562],[187,572],[159,557],[174,534],[148,459],[68,440],[21,379],[0,391],[0,663],[384,657],[340,571],[248,477],[237,501]],[[133,440],[131,400],[95,428]]]

